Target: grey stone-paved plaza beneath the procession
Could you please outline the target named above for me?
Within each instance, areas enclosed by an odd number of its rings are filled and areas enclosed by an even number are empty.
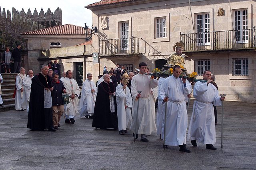
[[[193,100],[192,100],[193,101]],[[223,150],[221,107],[216,125],[217,150],[187,141],[190,153],[178,146],[163,150],[163,140],[154,132],[149,143],[128,131],[99,130],[92,119],[76,116],[74,125],[56,132],[30,131],[27,112],[1,112],[0,170],[249,170],[256,169],[256,104],[224,102]],[[192,102],[188,122],[192,113]],[[140,137],[139,137],[140,138]]]

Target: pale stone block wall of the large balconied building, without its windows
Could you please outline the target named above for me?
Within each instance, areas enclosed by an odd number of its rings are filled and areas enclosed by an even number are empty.
[[[102,69],[104,65],[112,65],[115,62],[133,64],[138,68],[139,62],[146,62],[150,69],[155,67],[155,61],[158,59],[168,59],[169,55],[174,53],[173,45],[180,41],[180,32],[193,33],[193,24],[196,28],[196,15],[204,12],[210,14],[210,31],[232,30],[232,18],[234,10],[248,10],[248,28],[256,26],[256,2],[253,0],[241,0],[232,2],[220,0],[197,0],[191,2],[191,12],[188,1],[152,1],[152,3],[136,4],[133,6],[118,6],[118,8],[100,7],[92,10],[92,23],[99,28],[96,35],[93,36],[93,52],[99,52],[98,38],[110,39],[120,38],[120,22],[129,22],[129,36],[142,38],[141,53],[142,57],[130,59],[128,57],[110,57],[101,59],[100,64],[93,64],[92,68]],[[218,16],[218,9],[223,8],[224,16]],[[230,11],[231,8],[231,11]],[[100,17],[108,16],[108,28],[100,28]],[[167,37],[154,37],[154,18],[166,17],[167,19]],[[193,22],[192,22],[193,21]],[[193,24],[192,24],[193,23]],[[212,73],[216,76],[216,83],[220,94],[227,94],[227,100],[240,100],[247,102],[256,102],[255,95],[255,74],[256,74],[256,52],[246,52],[246,50],[230,50],[221,53],[188,54],[191,61],[185,62],[188,72],[194,71],[194,60],[210,59]],[[232,58],[248,57],[249,76],[232,76]],[[103,60],[103,61],[102,61]],[[120,62],[119,62],[120,63]],[[199,79],[202,77],[198,77]]]

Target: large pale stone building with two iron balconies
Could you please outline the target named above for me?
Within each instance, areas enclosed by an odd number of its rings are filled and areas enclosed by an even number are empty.
[[[256,102],[254,0],[101,0],[86,8],[98,27],[93,75],[116,62],[132,71],[140,62],[160,68],[181,40],[188,72],[202,79],[210,69],[227,100]]]

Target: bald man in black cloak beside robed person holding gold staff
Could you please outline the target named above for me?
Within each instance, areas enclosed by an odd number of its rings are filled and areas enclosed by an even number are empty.
[[[118,129],[116,114],[115,87],[108,74],[103,75],[104,81],[98,85],[92,127],[100,129]]]

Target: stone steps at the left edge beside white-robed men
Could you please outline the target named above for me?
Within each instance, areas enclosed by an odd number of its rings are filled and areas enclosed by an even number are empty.
[[[2,89],[2,99],[4,107],[0,107],[0,112],[6,110],[13,110],[15,99],[12,98],[14,89],[15,89],[15,78],[16,73],[1,73],[3,77],[3,83],[1,84]]]

